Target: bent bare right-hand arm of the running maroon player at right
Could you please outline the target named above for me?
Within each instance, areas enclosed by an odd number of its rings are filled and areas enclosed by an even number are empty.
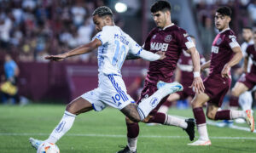
[[[241,60],[242,58],[242,53],[241,53],[241,48],[240,46],[237,46],[235,48],[232,48],[233,52],[235,53],[234,56],[232,57],[232,59],[230,59],[230,61],[224,65],[223,70],[221,71],[221,76],[222,77],[229,77],[229,73],[230,73],[230,68],[233,65],[238,64],[238,62]]]

